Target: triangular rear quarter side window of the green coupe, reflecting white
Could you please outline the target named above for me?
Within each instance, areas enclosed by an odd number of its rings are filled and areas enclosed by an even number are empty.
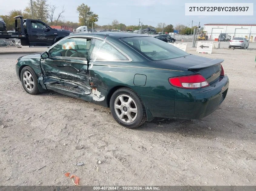
[[[114,46],[106,41],[93,39],[90,49],[90,60],[105,60],[105,61],[127,61],[125,55],[118,51]]]

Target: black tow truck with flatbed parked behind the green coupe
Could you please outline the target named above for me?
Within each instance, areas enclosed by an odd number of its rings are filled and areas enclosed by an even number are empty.
[[[23,46],[49,47],[58,40],[72,34],[68,30],[53,29],[35,19],[15,18],[15,33],[0,31],[0,39],[20,39]]]

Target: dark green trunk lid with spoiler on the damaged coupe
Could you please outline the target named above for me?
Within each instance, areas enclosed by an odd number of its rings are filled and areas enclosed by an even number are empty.
[[[188,71],[201,74],[206,81],[211,84],[214,83],[221,74],[221,62],[223,59],[210,59],[201,56],[189,55],[185,57],[158,60],[159,64],[172,65],[181,68],[186,68]]]

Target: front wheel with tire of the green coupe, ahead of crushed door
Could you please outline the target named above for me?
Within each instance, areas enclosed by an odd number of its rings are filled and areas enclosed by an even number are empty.
[[[21,74],[20,74],[20,80],[24,90],[28,94],[35,95],[40,93],[38,89],[37,75],[30,66],[25,66],[24,68],[22,68]]]

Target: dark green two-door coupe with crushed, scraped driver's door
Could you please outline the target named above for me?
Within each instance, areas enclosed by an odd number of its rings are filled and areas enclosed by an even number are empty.
[[[221,62],[145,35],[79,33],[18,58],[16,73],[28,94],[53,90],[110,107],[119,124],[135,128],[214,112],[229,86]]]

